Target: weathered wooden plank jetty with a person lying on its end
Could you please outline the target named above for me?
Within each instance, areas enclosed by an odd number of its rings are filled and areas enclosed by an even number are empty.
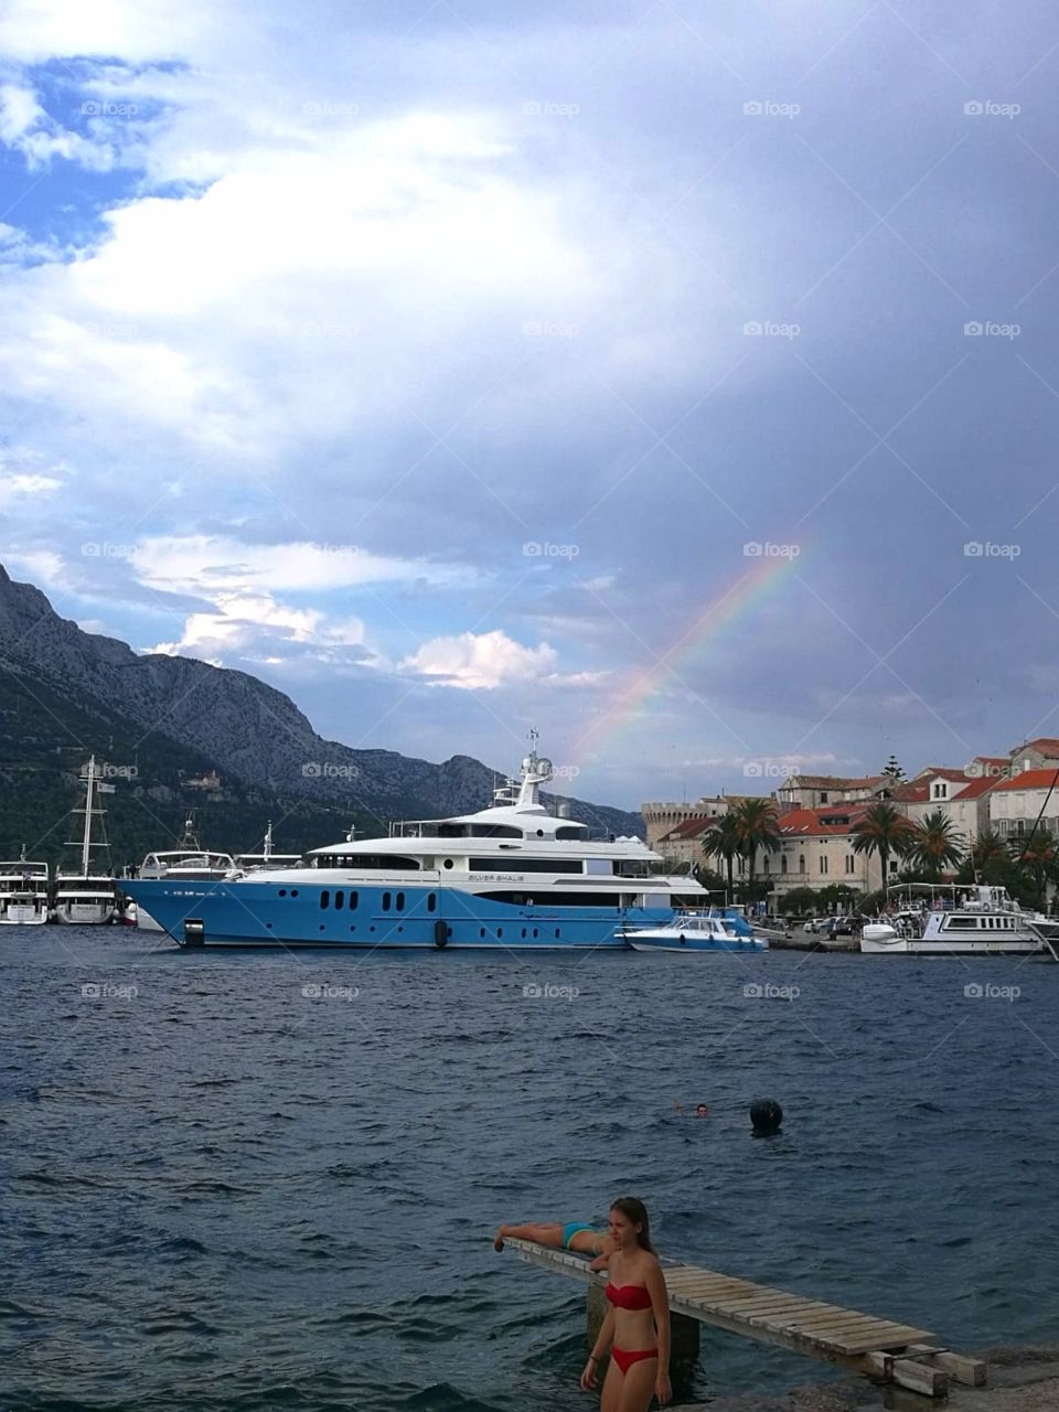
[[[505,1244],[532,1265],[583,1281],[589,1286],[590,1309],[600,1299],[607,1276],[590,1271],[580,1257],[511,1237],[505,1238]],[[952,1353],[938,1344],[926,1329],[770,1289],[700,1265],[662,1261],[662,1274],[674,1316],[675,1354],[679,1344],[688,1347],[686,1332],[681,1337],[681,1324],[693,1320],[696,1353],[698,1324],[705,1323],[778,1348],[805,1353],[823,1363],[842,1364],[880,1382],[892,1382],[928,1396],[946,1396],[949,1380],[971,1387],[986,1382],[981,1360]]]

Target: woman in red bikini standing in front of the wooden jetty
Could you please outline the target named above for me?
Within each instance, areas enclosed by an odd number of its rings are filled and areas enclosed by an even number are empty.
[[[662,1267],[651,1244],[647,1207],[635,1196],[620,1196],[610,1207],[610,1310],[580,1375],[585,1391],[596,1387],[599,1360],[610,1348],[600,1412],[647,1412],[672,1398],[669,1387],[669,1299]]]

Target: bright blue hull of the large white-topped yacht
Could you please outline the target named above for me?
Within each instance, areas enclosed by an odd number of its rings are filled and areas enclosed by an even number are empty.
[[[121,882],[182,946],[624,947],[618,929],[664,926],[671,908],[508,904],[414,882]],[[342,905],[336,907],[337,898]]]

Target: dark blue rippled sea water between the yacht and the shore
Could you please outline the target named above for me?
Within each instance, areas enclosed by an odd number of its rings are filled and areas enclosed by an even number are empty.
[[[1055,1334],[1058,966],[151,940],[0,929],[4,1408],[583,1409],[583,1292],[490,1234],[623,1192],[664,1254]],[[818,1371],[703,1330],[695,1391]]]

